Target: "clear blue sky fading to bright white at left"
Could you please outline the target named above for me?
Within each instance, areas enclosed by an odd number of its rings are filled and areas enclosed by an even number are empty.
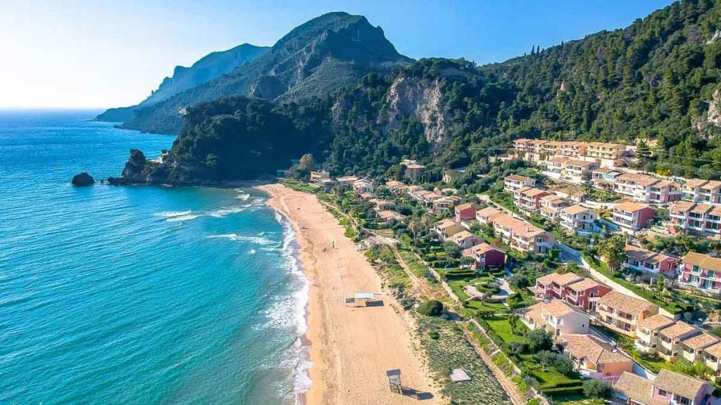
[[[0,0],[0,108],[141,102],[174,66],[273,45],[326,12],[363,14],[411,58],[479,64],[629,25],[671,0]]]

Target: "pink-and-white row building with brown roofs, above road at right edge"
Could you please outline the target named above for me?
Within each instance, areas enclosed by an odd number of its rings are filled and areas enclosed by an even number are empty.
[[[671,231],[678,227],[704,236],[721,235],[721,205],[680,201],[671,205],[669,216],[671,219],[668,226]]]

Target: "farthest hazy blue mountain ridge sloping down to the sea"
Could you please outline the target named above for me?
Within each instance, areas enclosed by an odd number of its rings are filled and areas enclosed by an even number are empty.
[[[172,77],[166,77],[157,90],[144,99],[140,104],[131,107],[110,108],[95,119],[111,123],[122,123],[133,115],[133,111],[139,107],[146,107],[151,104],[162,102],[175,94],[192,89],[195,86],[207,83],[224,74],[229,74],[235,68],[257,59],[267,53],[269,47],[255,46],[250,44],[238,45],[229,50],[209,53],[193,66],[175,66]]]

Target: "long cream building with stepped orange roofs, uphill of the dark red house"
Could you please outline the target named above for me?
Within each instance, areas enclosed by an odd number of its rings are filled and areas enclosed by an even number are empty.
[[[501,212],[495,208],[477,211],[476,219],[485,226],[492,226],[508,246],[521,252],[545,254],[556,246],[552,233],[536,228],[526,221]]]

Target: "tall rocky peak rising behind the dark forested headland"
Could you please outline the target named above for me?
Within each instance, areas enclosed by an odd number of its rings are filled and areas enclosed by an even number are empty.
[[[123,128],[177,133],[180,111],[200,102],[247,95],[275,102],[332,94],[369,72],[390,72],[412,60],[399,54],[366,17],[333,12],[311,19],[231,74],[138,109]]]

